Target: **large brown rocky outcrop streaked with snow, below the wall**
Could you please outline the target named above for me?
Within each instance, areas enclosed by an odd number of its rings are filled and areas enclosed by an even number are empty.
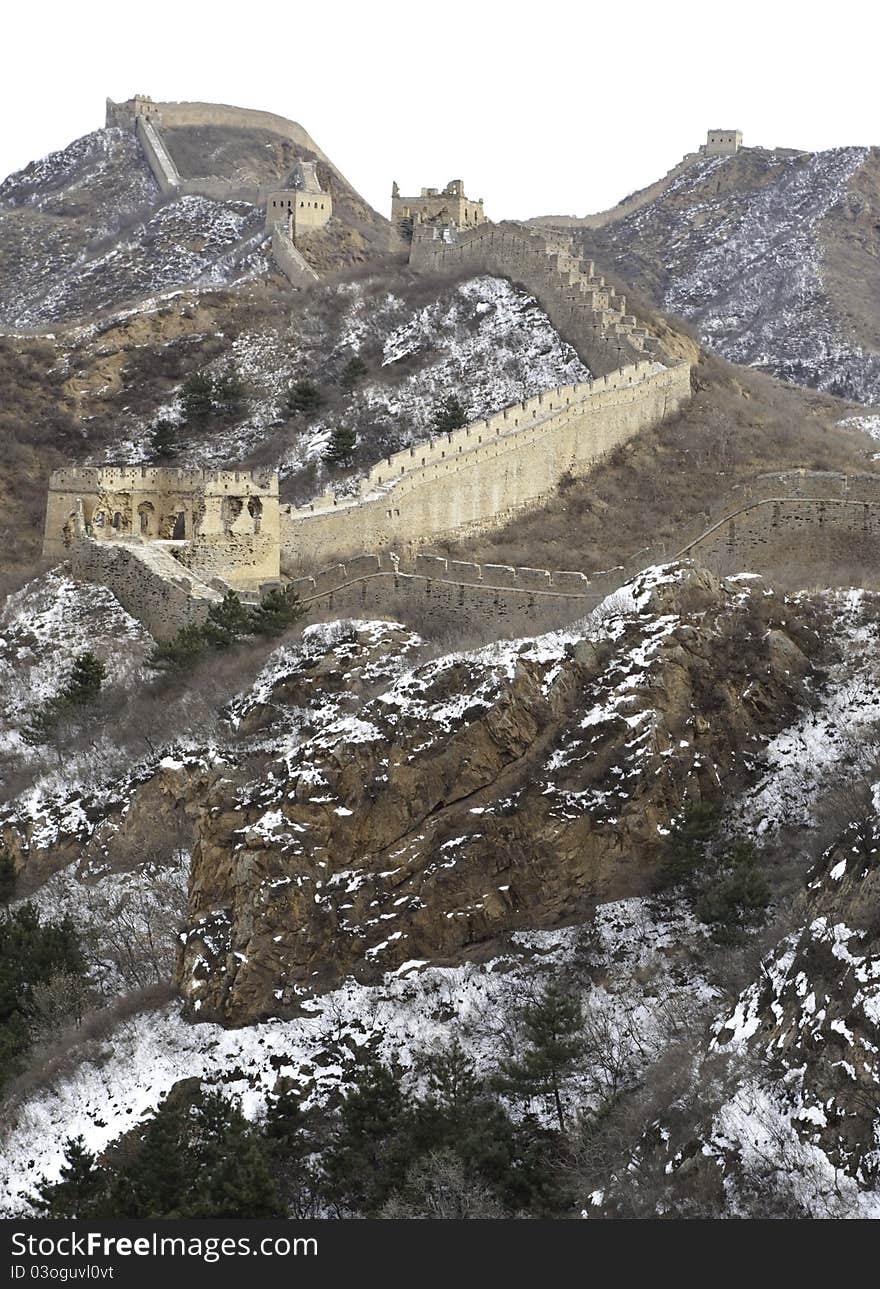
[[[259,782],[219,780],[179,971],[193,1012],[285,1014],[648,888],[682,797],[742,780],[808,693],[818,639],[781,610],[760,579],[651,570],[600,621],[424,664]]]

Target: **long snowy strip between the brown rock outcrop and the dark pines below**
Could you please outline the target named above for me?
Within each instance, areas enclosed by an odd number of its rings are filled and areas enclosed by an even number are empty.
[[[689,1007],[713,996],[705,982],[685,982],[675,971],[676,946],[693,929],[683,909],[651,900],[599,910],[589,954],[603,969],[603,985],[581,989],[594,1017],[620,1032],[624,1079],[635,1076],[664,1042],[661,999]],[[202,1078],[241,1098],[249,1118],[260,1118],[278,1078],[291,1079],[307,1105],[344,1088],[365,1045],[412,1071],[420,1052],[457,1036],[488,1072],[505,1054],[505,1025],[526,985],[560,972],[577,978],[582,955],[579,928],[522,932],[509,954],[488,963],[425,968],[407,962],[378,986],[349,980],[305,1004],[296,1020],[224,1030],[188,1025],[173,1003],[121,1021],[94,1048],[84,1047],[71,1074],[33,1092],[0,1130],[0,1216],[28,1212],[35,1183],[58,1174],[67,1137],[81,1133],[88,1148],[103,1150],[179,1079]]]

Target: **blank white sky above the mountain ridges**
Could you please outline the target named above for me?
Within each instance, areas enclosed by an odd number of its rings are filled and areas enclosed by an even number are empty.
[[[0,41],[0,175],[134,93],[291,117],[383,214],[452,178],[490,218],[600,210],[709,126],[880,143],[871,0],[19,0]]]

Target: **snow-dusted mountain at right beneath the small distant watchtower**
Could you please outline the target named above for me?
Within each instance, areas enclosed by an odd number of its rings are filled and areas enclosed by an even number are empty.
[[[877,403],[877,228],[880,150],[742,148],[579,236],[731,361]]]

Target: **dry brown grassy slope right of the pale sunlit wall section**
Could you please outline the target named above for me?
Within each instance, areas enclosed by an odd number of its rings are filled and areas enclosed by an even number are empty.
[[[733,489],[768,470],[872,470],[870,441],[835,427],[847,405],[702,354],[693,401],[617,449],[588,478],[562,481],[540,510],[495,534],[438,543],[479,563],[620,566],[671,554]],[[734,504],[732,504],[732,509]]]

